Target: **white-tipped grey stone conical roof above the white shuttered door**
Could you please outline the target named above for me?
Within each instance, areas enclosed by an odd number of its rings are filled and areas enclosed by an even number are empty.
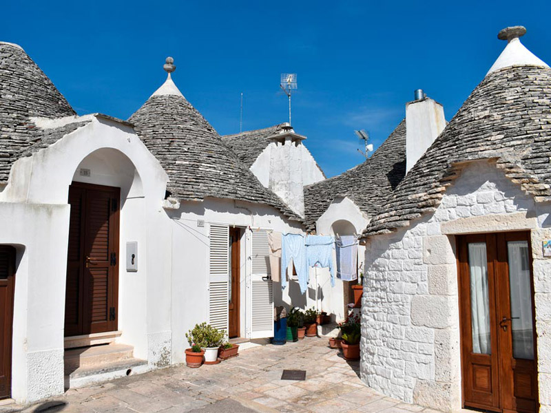
[[[180,93],[170,76],[129,121],[167,172],[167,191],[172,197],[267,204],[289,219],[301,221],[277,195],[262,186]]]

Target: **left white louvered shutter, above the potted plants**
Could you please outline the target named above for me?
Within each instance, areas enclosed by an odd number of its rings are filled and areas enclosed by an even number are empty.
[[[229,227],[210,226],[209,324],[228,330]]]

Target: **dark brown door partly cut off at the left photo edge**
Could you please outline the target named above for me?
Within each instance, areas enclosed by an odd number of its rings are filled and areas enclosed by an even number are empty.
[[[0,246],[0,399],[10,397],[15,248]]]

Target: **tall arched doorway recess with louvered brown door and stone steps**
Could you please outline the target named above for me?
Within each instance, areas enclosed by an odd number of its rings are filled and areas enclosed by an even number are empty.
[[[97,149],[79,163],[67,202],[64,369],[70,388],[107,370],[118,377],[147,366],[145,271],[129,268],[126,259],[130,241],[134,260],[138,244],[145,248],[146,220],[141,176],[117,149]]]

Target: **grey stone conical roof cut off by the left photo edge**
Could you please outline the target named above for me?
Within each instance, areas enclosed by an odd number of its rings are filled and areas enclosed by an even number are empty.
[[[53,141],[76,125],[50,131],[45,138],[30,117],[74,116],[67,100],[21,47],[0,42],[0,183],[13,162],[30,154],[43,139]],[[55,133],[54,133],[55,132]],[[59,133],[57,133],[59,132]]]

